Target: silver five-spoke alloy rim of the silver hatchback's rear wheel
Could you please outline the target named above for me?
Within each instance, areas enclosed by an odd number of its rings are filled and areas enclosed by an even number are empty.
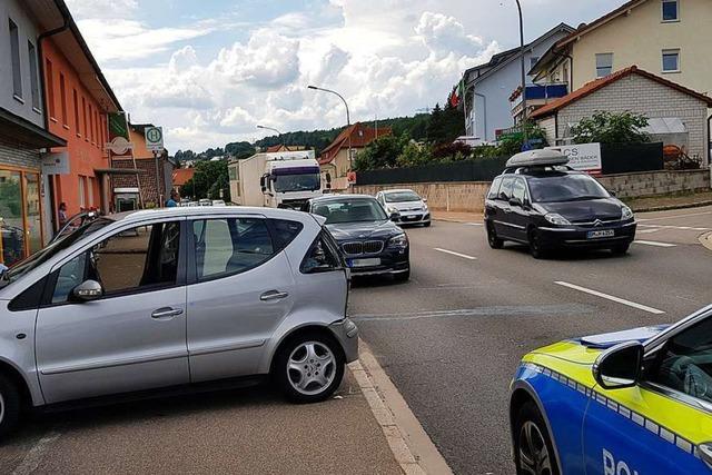
[[[313,396],[330,386],[336,376],[336,357],[319,342],[298,345],[287,360],[287,379],[298,393]]]

